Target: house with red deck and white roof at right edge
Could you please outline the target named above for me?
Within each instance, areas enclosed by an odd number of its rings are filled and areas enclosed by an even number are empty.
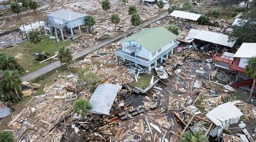
[[[236,53],[216,53],[213,60],[216,61],[215,66],[218,68],[236,74],[236,78],[232,82],[233,86],[250,90],[253,79],[246,77],[245,68],[247,60],[254,56],[256,56],[256,43],[243,43]],[[254,86],[254,90],[256,90],[256,86]]]

